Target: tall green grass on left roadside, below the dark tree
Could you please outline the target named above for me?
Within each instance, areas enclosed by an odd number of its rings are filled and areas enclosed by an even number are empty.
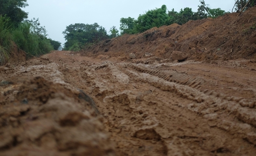
[[[15,44],[26,52],[27,57],[49,53],[53,46],[45,36],[36,33],[28,21],[14,27],[10,18],[0,15],[0,65],[9,59]]]

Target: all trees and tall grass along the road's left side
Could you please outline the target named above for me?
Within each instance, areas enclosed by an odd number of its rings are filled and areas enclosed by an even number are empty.
[[[32,57],[60,47],[60,42],[47,38],[39,19],[27,20],[28,14],[21,9],[28,6],[27,0],[0,0],[0,4],[0,65],[17,48]]]

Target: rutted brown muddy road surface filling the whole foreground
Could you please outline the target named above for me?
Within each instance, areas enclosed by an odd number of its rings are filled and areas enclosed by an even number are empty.
[[[67,51],[0,67],[0,155],[255,156],[255,70]]]

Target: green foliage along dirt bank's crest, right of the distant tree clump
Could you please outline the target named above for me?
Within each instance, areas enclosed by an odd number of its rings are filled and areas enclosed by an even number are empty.
[[[173,23],[185,24],[189,20],[197,20],[204,18],[216,18],[226,14],[225,11],[220,8],[211,9],[205,4],[204,0],[200,0],[197,12],[193,12],[192,8],[180,9],[180,12],[171,11],[167,12],[166,5],[162,5],[161,8],[146,11],[145,14],[139,15],[138,19],[131,17],[120,19],[121,35],[123,34],[136,34],[142,33],[153,27],[161,27],[163,25],[170,25]]]

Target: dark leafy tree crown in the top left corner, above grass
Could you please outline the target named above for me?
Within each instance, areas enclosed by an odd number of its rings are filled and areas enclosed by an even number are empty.
[[[14,26],[18,26],[28,16],[27,12],[21,9],[27,6],[27,0],[0,0],[0,15],[7,15]]]

